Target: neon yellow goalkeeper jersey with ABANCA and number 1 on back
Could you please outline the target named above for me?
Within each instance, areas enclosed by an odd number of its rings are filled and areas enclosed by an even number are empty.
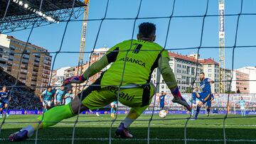
[[[129,49],[131,43],[132,48]],[[102,76],[102,87],[119,86],[123,70],[122,86],[149,83],[151,73],[158,67],[159,58],[169,57],[167,50],[160,45],[145,40],[125,40],[114,45],[106,55],[108,62],[113,63]]]

